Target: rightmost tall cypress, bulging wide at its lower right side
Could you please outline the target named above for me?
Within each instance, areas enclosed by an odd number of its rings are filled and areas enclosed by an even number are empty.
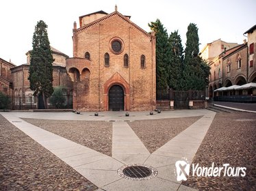
[[[188,25],[185,59],[182,72],[183,90],[203,90],[207,85],[209,66],[199,57],[198,28],[194,23]]]

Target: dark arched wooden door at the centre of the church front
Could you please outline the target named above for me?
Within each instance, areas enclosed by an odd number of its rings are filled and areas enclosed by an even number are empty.
[[[108,92],[109,111],[123,111],[125,105],[125,93],[120,85],[113,85]]]

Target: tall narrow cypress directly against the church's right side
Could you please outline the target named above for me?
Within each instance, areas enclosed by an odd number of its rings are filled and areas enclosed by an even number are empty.
[[[157,91],[168,88],[168,62],[170,48],[168,46],[168,33],[159,19],[149,24],[156,36],[156,86]]]

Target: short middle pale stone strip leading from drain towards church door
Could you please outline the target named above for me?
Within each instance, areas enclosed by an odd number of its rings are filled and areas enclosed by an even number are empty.
[[[128,123],[113,122],[112,157],[125,164],[140,163],[150,156],[148,149],[133,132]]]

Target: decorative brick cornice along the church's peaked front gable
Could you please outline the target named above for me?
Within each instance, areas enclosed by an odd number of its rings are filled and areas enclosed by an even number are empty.
[[[74,33],[81,33],[82,31],[84,31],[85,29],[88,29],[94,25],[98,25],[99,23],[103,22],[104,20],[107,20],[109,18],[112,18],[113,16],[120,16],[120,18],[122,18],[123,20],[125,20],[127,23],[133,25],[133,27],[136,27],[136,29],[138,29],[139,31],[141,31],[142,33],[144,33],[144,35],[147,36],[151,36],[150,33],[144,31],[144,29],[140,28],[138,25],[136,25],[135,23],[131,22],[131,20],[129,20],[128,18],[126,18],[125,16],[123,16],[123,14],[120,14],[120,12],[112,12],[111,14],[107,14],[106,16],[103,16],[97,20],[92,21],[92,23],[88,23],[87,25],[84,25],[83,27],[80,27],[77,30],[73,30]]]

